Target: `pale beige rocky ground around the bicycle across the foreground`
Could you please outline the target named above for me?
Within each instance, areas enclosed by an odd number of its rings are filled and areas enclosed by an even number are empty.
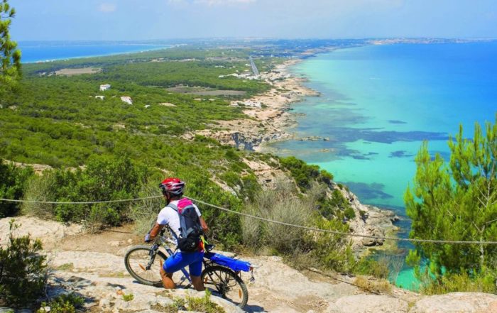
[[[140,285],[124,268],[124,254],[140,244],[141,237],[124,226],[101,234],[85,234],[80,226],[21,217],[18,234],[30,233],[45,244],[52,268],[49,295],[77,292],[86,299],[89,312],[159,312],[153,308],[173,303],[175,297],[202,297],[203,292]],[[5,244],[9,219],[0,219],[0,243]],[[322,275],[315,270],[299,272],[279,257],[242,258],[259,265],[255,282],[248,284],[246,312],[497,312],[497,295],[452,293],[423,297],[393,287],[383,295],[367,292],[347,275]],[[249,282],[249,275],[242,276]],[[133,294],[125,301],[123,295]],[[212,300],[226,312],[241,312],[219,297]],[[6,309],[0,309],[0,312]]]

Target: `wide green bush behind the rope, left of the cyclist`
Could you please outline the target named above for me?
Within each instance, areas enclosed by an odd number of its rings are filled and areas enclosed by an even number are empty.
[[[92,202],[138,197],[148,170],[127,156],[92,158],[87,167],[50,170],[33,177],[26,199],[57,202]],[[26,204],[23,211],[33,215],[55,216],[60,221],[86,221],[91,228],[116,226],[129,219],[129,202],[100,204]]]

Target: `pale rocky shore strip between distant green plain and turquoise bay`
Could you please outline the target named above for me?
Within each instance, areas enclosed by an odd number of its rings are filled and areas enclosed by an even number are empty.
[[[243,101],[231,101],[231,106],[241,106],[248,119],[218,121],[209,129],[197,134],[216,138],[221,143],[236,148],[260,151],[264,143],[293,138],[288,128],[295,124],[290,114],[290,104],[304,97],[319,96],[320,93],[304,86],[305,79],[290,73],[290,67],[301,60],[288,60],[277,65],[271,72],[261,73],[261,80],[272,88]]]

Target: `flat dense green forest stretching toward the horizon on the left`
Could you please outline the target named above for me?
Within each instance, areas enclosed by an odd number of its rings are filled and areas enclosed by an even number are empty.
[[[157,57],[175,60],[181,54],[203,60],[151,62]],[[257,80],[219,78],[246,70],[247,61],[240,57],[248,54],[176,48],[24,65],[17,88],[0,99],[0,156],[54,167],[83,165],[90,155],[111,155],[116,150],[131,150],[133,158],[141,160],[158,160],[164,153],[158,145],[182,144],[178,136],[184,133],[216,120],[244,117],[239,108],[229,106],[232,96],[200,97],[165,88],[183,84],[239,90],[246,92],[244,97],[266,91],[268,84]],[[231,60],[231,55],[236,58]],[[205,60],[207,56],[219,60]],[[99,66],[102,72],[52,75],[62,68],[87,66]],[[111,89],[101,92],[100,84],[111,84]],[[131,97],[133,104],[120,97]]]

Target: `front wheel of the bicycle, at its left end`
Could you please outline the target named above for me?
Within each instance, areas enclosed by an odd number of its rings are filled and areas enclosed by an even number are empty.
[[[143,285],[161,286],[160,267],[165,256],[160,251],[151,256],[150,249],[150,246],[134,246],[124,256],[124,266],[128,273]]]

